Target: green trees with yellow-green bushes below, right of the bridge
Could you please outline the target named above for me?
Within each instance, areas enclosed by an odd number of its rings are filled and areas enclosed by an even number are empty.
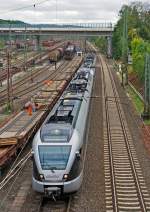
[[[144,80],[145,55],[150,53],[150,4],[132,2],[124,5],[113,33],[113,56],[122,58],[124,12],[127,12],[128,53],[132,55],[133,69]]]

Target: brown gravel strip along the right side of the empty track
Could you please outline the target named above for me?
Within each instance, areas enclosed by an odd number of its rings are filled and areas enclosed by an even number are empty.
[[[112,66],[110,66],[112,68]],[[119,96],[123,97],[123,109],[126,115],[126,120],[133,138],[139,163],[143,172],[143,177],[147,185],[147,189],[150,193],[150,153],[144,145],[143,135],[142,135],[142,121],[137,114],[132,101],[127,97],[125,90],[120,85],[117,75],[113,72],[113,76],[116,82],[117,89],[119,91]]]

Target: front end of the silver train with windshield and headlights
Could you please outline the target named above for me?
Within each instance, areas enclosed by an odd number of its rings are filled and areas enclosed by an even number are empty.
[[[60,196],[80,188],[83,173],[78,145],[74,142],[78,139],[77,132],[72,133],[67,126],[55,129],[49,124],[37,133],[33,141],[32,186],[35,191]]]

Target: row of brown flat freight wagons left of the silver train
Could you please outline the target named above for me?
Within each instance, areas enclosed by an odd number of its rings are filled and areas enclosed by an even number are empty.
[[[21,111],[0,129],[0,167],[7,164],[39,128],[81,63],[82,58],[75,57],[62,74],[44,85],[39,96],[34,97],[35,103],[39,105],[36,112],[29,116],[26,111]]]

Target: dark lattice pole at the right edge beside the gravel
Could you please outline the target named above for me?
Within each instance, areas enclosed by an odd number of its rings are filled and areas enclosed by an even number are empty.
[[[145,57],[145,89],[144,89],[144,113],[143,118],[150,117],[150,55]]]

